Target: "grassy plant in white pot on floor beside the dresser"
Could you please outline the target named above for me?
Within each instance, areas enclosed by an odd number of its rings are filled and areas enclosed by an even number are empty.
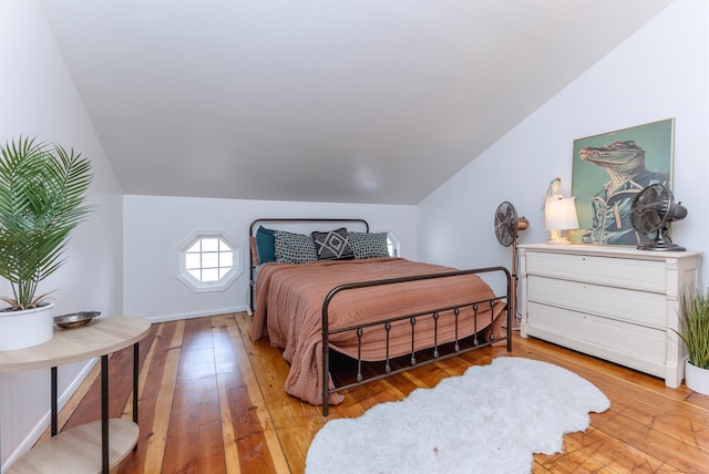
[[[689,354],[685,362],[687,388],[709,395],[709,289],[682,295],[680,329]]]

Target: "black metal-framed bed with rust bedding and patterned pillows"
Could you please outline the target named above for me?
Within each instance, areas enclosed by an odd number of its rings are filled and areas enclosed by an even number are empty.
[[[285,223],[332,228],[276,229]],[[257,219],[249,241],[250,337],[268,337],[282,350],[290,363],[284,389],[321,404],[326,416],[342,401],[339,392],[357,384],[505,340],[512,350],[503,267],[458,270],[390,257],[386,234],[369,233],[362,219]],[[502,276],[506,292],[495,295],[484,274]],[[443,347],[452,350],[444,354]],[[335,384],[331,351],[356,361],[352,383]],[[405,367],[397,368],[392,361],[404,356]],[[381,373],[366,377],[362,365],[374,361]]]

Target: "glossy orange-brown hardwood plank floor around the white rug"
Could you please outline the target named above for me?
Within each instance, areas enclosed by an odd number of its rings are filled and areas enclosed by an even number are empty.
[[[326,420],[282,391],[288,365],[268,341],[251,341],[246,313],[153,324],[141,342],[138,446],[119,473],[302,473]],[[517,334],[517,333],[515,333]],[[462,374],[494,357],[525,357],[569,369],[598,387],[610,409],[592,413],[564,452],[534,456],[534,473],[707,473],[709,396],[534,339],[513,351],[485,348],[346,393],[330,419],[357,416],[418,387]],[[111,416],[132,416],[132,351],[110,359]],[[99,369],[60,413],[61,429],[96,420]]]

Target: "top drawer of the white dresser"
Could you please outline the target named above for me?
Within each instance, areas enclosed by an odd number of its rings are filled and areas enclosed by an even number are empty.
[[[667,292],[667,268],[664,261],[528,253],[526,272],[657,293]]]

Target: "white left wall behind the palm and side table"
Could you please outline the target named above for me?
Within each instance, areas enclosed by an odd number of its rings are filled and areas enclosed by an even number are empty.
[[[0,1],[0,142],[20,135],[73,147],[92,162],[90,220],[72,234],[66,264],[45,280],[55,313],[101,310],[122,313],[122,196],[81,99],[64,68],[40,7]],[[0,293],[10,287],[0,284]],[[88,365],[59,369],[62,401]],[[49,422],[50,371],[0,373],[0,462],[3,466],[34,442]],[[97,414],[99,415],[99,414]]]

